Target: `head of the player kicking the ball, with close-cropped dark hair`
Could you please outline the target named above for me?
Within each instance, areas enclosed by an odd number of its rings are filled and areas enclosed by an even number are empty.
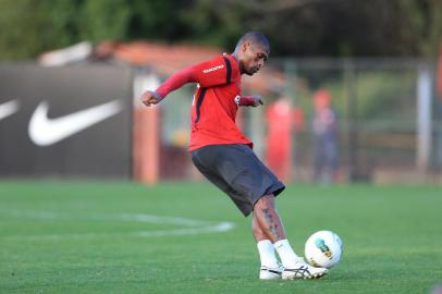
[[[266,63],[270,53],[270,44],[259,32],[248,32],[240,38],[235,48],[235,57],[240,62],[241,73],[253,75]]]

